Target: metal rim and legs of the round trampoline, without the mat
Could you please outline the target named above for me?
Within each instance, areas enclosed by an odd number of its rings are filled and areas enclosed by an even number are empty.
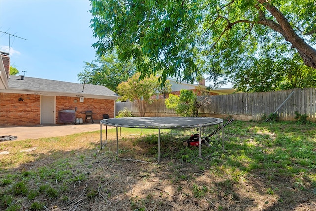
[[[125,118],[133,118],[133,117],[125,117]],[[137,117],[141,118],[141,117]],[[149,118],[149,117],[146,117]],[[152,117],[155,118],[155,117]],[[161,117],[159,117],[161,118]],[[179,117],[165,117],[165,118],[179,118]],[[187,117],[187,118],[192,118],[194,119],[195,117]],[[201,118],[201,117],[199,117]],[[158,129],[158,162],[157,164],[160,163],[161,161],[161,130],[162,129],[179,129],[179,128],[194,128],[198,127],[199,128],[199,157],[202,157],[202,138],[201,138],[201,130],[202,127],[206,126],[211,126],[211,125],[221,125],[221,130],[222,130],[222,150],[224,150],[224,130],[223,130],[223,119],[220,118],[215,118],[215,117],[203,117],[203,118],[209,118],[209,119],[215,119],[216,121],[212,121],[209,123],[203,123],[203,124],[193,124],[193,125],[183,125],[183,126],[132,126],[132,125],[123,125],[123,124],[114,124],[110,123],[109,121],[117,118],[110,118],[110,119],[103,119],[100,121],[100,150],[102,150],[102,125],[106,126],[106,141],[108,140],[108,127],[107,126],[114,126],[116,127],[116,139],[117,139],[117,157],[118,157],[118,127],[126,127],[126,128],[140,128],[140,129]]]

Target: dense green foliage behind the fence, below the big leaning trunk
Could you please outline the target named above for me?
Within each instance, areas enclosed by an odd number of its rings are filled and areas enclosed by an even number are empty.
[[[302,63],[296,53],[293,58],[276,54],[249,57],[232,74],[232,84],[238,91],[264,92],[316,86],[316,69]]]

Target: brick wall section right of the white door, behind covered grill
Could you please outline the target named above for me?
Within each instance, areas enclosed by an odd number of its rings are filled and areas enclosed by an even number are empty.
[[[76,100],[77,102],[75,102]],[[60,110],[75,110],[76,107],[76,118],[81,117],[83,119],[83,122],[85,119],[85,111],[93,112],[93,120],[102,120],[103,114],[108,114],[109,118],[114,117],[114,100],[84,98],[84,102],[81,103],[79,97],[56,96],[56,123],[58,123],[58,112]]]

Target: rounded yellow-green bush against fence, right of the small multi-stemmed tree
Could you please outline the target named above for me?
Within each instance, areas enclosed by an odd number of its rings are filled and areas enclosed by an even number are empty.
[[[180,95],[169,94],[165,100],[165,105],[169,109],[174,109],[177,114],[183,117],[197,117],[199,109],[210,105],[211,100],[205,97],[198,99],[197,94],[192,90],[182,89]]]

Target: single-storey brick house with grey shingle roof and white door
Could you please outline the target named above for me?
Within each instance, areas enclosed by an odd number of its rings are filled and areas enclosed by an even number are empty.
[[[65,124],[61,111],[74,111],[85,120],[92,111],[95,122],[115,117],[118,95],[105,86],[79,84],[48,79],[9,76],[8,57],[1,52],[0,60],[0,127]],[[9,62],[9,60],[8,60]],[[89,120],[91,121],[91,120]]]

